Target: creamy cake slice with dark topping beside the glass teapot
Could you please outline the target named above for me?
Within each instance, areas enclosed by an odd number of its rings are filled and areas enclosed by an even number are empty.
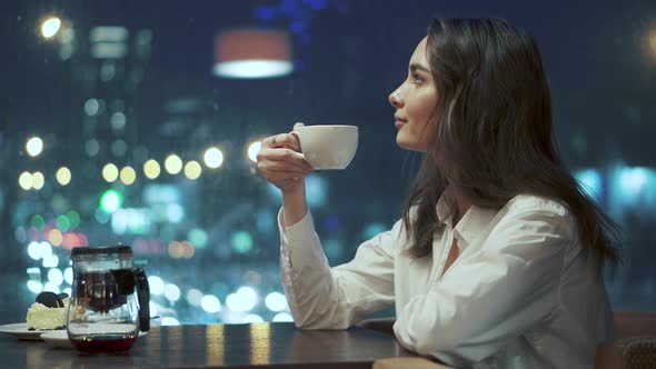
[[[28,309],[29,330],[63,329],[69,298],[67,293],[41,292]]]

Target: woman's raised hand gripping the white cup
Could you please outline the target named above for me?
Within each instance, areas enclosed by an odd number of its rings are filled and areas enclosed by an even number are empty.
[[[294,130],[300,127],[302,123],[296,123]],[[279,188],[284,196],[305,190],[302,179],[312,172],[312,167],[300,151],[298,136],[290,132],[264,139],[261,149],[257,153],[258,170],[269,182]]]

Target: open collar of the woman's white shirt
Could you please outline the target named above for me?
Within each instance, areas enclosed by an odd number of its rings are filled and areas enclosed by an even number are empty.
[[[449,186],[437,201],[436,211],[438,220],[451,228],[455,210],[456,200],[451,187]],[[468,245],[474,242],[476,238],[483,235],[497,212],[497,209],[479,208],[473,205],[469,210],[465,212],[465,216],[463,216],[456,228],[454,228],[454,233],[459,241],[458,248],[464,250]]]

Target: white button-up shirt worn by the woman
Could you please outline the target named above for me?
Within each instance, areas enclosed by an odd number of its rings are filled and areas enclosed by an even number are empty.
[[[446,192],[445,192],[446,193]],[[454,228],[444,195],[430,256],[413,259],[402,221],[330,268],[310,212],[278,223],[282,285],[295,322],[346,329],[395,305],[406,348],[456,367],[592,368],[615,332],[595,257],[559,202],[517,196],[500,210],[471,207]],[[458,258],[444,273],[457,240]]]

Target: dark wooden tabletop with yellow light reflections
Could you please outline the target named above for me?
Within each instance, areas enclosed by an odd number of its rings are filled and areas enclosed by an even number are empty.
[[[299,330],[291,322],[156,327],[122,355],[85,355],[0,335],[3,368],[371,368],[416,356],[394,336],[362,328]]]

